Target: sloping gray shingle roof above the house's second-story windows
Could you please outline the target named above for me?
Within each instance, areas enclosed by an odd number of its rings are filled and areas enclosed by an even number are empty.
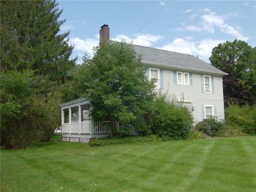
[[[142,62],[148,66],[159,68],[170,68],[173,70],[193,71],[216,75],[227,75],[227,73],[215,68],[193,55],[176,53],[156,48],[132,45],[134,50],[142,55]]]

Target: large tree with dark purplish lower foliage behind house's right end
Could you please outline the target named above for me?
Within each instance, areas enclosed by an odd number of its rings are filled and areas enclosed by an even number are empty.
[[[225,107],[229,102],[256,104],[256,47],[242,40],[226,41],[213,48],[209,60],[228,73],[223,77]]]

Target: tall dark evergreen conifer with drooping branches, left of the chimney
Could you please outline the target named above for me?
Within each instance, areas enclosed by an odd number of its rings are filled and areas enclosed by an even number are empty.
[[[58,34],[65,20],[58,21],[55,1],[0,1],[1,72],[32,70],[34,88],[49,88],[66,80],[74,46],[68,44],[70,32]]]

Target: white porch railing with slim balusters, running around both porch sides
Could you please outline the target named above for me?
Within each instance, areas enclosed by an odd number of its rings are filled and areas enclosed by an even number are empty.
[[[108,121],[94,123],[94,133],[109,133],[108,125]],[[91,122],[64,123],[62,125],[62,133],[91,134]]]

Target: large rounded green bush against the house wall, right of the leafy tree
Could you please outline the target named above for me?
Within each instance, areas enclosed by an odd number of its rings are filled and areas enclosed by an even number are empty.
[[[187,139],[193,124],[190,110],[167,101],[164,95],[156,98],[151,119],[152,134],[165,140]]]

